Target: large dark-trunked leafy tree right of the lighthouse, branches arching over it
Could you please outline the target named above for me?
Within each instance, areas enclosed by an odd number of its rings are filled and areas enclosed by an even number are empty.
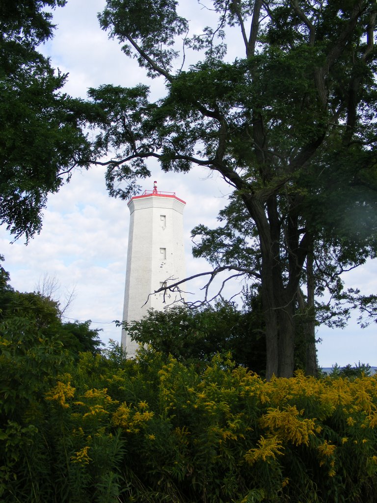
[[[147,158],[224,177],[253,236],[243,272],[260,282],[266,376],[289,377],[308,256],[321,242],[341,267],[375,254],[377,10],[370,0],[216,0],[208,10],[218,22],[192,34],[173,0],[108,0],[102,28],[165,80],[166,97],[150,102],[145,86],[90,90],[107,114],[96,147],[117,152],[106,162],[115,196],[148,176]],[[188,70],[174,66],[182,37],[187,58],[199,51]],[[226,266],[237,271],[237,255]]]

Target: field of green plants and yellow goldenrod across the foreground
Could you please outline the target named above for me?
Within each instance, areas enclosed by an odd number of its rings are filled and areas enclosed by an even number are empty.
[[[5,503],[375,501],[377,377],[269,382],[117,346],[1,337]]]

